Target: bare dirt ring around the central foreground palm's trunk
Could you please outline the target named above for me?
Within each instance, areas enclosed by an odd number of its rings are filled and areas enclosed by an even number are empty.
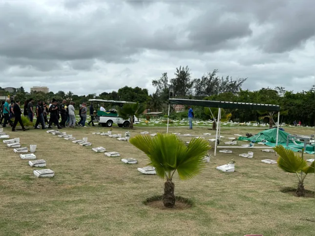
[[[162,196],[149,197],[143,203],[150,207],[154,207],[161,210],[170,210],[170,211],[171,210],[185,210],[185,209],[190,208],[193,205],[191,200],[184,197],[180,197],[180,196],[176,196],[176,202],[173,208],[168,208],[164,206]]]

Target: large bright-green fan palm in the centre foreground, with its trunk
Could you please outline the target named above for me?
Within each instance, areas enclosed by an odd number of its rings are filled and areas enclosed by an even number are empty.
[[[181,179],[198,175],[205,167],[203,158],[210,149],[204,139],[193,138],[186,146],[173,134],[158,134],[154,138],[137,135],[129,142],[149,157],[149,165],[155,168],[159,177],[166,178],[163,203],[170,208],[175,205],[175,185],[172,182],[175,172]]]

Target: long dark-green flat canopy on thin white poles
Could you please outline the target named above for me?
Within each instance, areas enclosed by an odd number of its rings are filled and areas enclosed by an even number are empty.
[[[193,100],[193,99],[178,99],[178,98],[169,98],[168,100],[168,119],[170,112],[170,104],[173,105],[195,105],[195,106],[204,106],[204,107],[216,107],[219,108],[218,112],[218,122],[216,126],[215,139],[220,139],[221,131],[221,109],[247,109],[247,110],[264,110],[271,112],[278,112],[278,122],[277,122],[277,135],[276,135],[276,144],[278,143],[278,131],[279,131],[279,118],[280,118],[280,106],[270,105],[270,104],[256,104],[256,103],[245,103],[245,102],[231,102],[231,101],[209,101],[209,100]],[[174,110],[174,108],[173,108]],[[167,126],[168,133],[168,126]],[[216,156],[217,141],[214,146],[214,156]],[[218,148],[226,148],[224,146],[219,146]],[[239,147],[237,147],[239,148]]]

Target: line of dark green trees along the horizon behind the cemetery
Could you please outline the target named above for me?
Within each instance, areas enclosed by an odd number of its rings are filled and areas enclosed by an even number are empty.
[[[151,112],[163,112],[167,114],[169,88],[171,87],[173,90],[172,96],[176,98],[280,105],[282,111],[280,122],[293,123],[293,121],[296,120],[301,121],[304,125],[315,125],[314,85],[308,91],[297,93],[287,91],[284,87],[268,87],[250,91],[242,89],[242,85],[247,78],[233,79],[230,76],[220,77],[217,73],[218,70],[215,69],[212,72],[205,73],[201,78],[193,79],[189,67],[180,66],[176,68],[174,76],[170,79],[167,73],[162,73],[159,79],[153,79],[152,85],[156,90],[150,95],[147,89],[125,86],[118,89],[118,91],[112,91],[110,93],[104,92],[99,95],[88,94],[87,96],[78,96],[71,91],[67,93],[58,91],[57,93],[32,92],[26,94],[24,88],[21,87],[17,88],[16,92],[11,94],[11,96],[14,95],[15,99],[21,100],[21,103],[29,98],[45,101],[52,100],[52,98],[59,101],[67,99],[73,100],[76,106],[93,98],[135,101],[145,103],[146,108]],[[270,120],[270,118],[262,116],[261,111],[228,110],[227,112],[231,113],[231,119],[233,121],[262,121],[262,119],[264,119],[263,121],[268,123]],[[194,107],[194,114],[195,118],[209,119],[203,107]],[[172,116],[178,118],[176,114]]]

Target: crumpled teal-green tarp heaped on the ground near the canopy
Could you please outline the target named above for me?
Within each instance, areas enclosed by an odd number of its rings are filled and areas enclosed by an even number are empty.
[[[284,146],[285,148],[289,148],[294,152],[299,152],[302,150],[304,147],[304,142],[300,141],[295,141],[296,144],[292,140],[289,140],[288,147],[287,145],[287,137],[288,133],[284,132],[282,130],[279,130],[279,136],[278,136],[278,144]],[[250,138],[247,137],[239,137],[238,140],[247,140],[247,141],[252,141],[254,140],[255,142],[265,142],[265,144],[269,147],[274,147],[276,143],[276,138],[277,138],[277,129],[269,129],[269,130],[264,130],[256,134],[255,136],[252,136]],[[267,141],[267,142],[266,142]],[[314,145],[306,145],[306,153],[308,154],[314,154]]]

